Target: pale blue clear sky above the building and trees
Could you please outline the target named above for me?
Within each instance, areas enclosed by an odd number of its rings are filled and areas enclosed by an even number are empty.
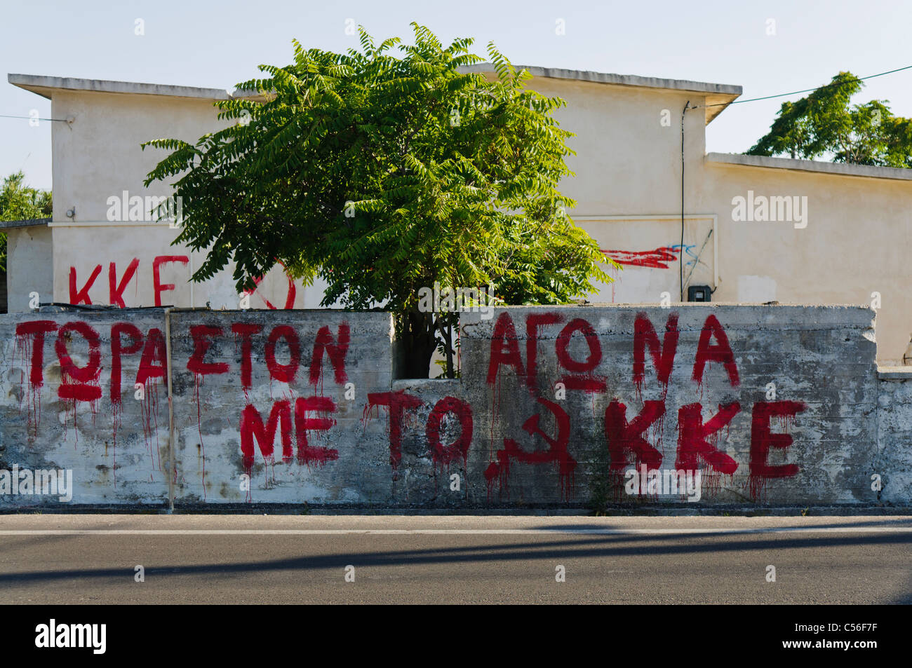
[[[348,18],[377,37],[407,37],[418,21],[447,41],[475,37],[482,55],[493,40],[524,65],[739,84],[742,98],[819,86],[839,70],[865,77],[912,65],[908,0],[2,0],[0,16],[0,114],[36,108],[43,118],[50,103],[6,83],[6,73],[231,88],[260,63],[289,62],[293,37],[306,47],[357,46]],[[134,34],[137,18],[144,36]],[[766,34],[771,18],[775,36]],[[912,70],[867,83],[856,101],[886,98],[894,113],[912,116]],[[726,109],[708,128],[707,149],[748,149],[781,103]],[[0,118],[0,175],[23,169],[32,185],[50,188],[49,125]]]

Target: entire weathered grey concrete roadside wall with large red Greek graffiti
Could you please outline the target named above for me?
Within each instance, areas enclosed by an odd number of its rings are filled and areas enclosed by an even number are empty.
[[[0,507],[907,506],[909,393],[878,379],[872,319],[696,304],[463,313],[461,378],[408,380],[391,373],[388,313],[9,314],[0,471],[68,468],[74,493]],[[628,494],[641,466],[700,470],[699,500]]]

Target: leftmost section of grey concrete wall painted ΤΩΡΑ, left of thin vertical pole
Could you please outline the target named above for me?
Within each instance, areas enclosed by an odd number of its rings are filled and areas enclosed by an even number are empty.
[[[72,503],[166,503],[167,389],[151,379],[143,383],[144,398],[133,398],[139,353],[119,355],[122,392],[115,392],[119,402],[111,401],[112,326],[129,320],[143,334],[163,332],[161,311],[51,311],[16,313],[0,319],[0,470],[14,465],[30,470],[71,469],[76,487]],[[60,396],[67,394],[72,379],[62,382],[62,365],[56,352],[58,336],[73,365],[91,364],[90,346],[81,334],[60,335],[67,323],[75,322],[98,334],[101,369],[98,377],[88,380],[89,387],[98,388],[99,398],[95,401],[70,401]],[[40,357],[35,356],[39,350],[36,334],[16,334],[17,329],[23,332],[30,324],[47,332]],[[130,343],[126,335],[121,341],[125,347]],[[33,370],[40,375],[33,376]],[[12,494],[0,496],[0,503],[12,507],[61,505],[56,496]]]

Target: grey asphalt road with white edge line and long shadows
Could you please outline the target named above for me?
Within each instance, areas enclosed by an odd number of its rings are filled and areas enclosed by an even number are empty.
[[[912,518],[5,515],[0,602],[910,603]]]

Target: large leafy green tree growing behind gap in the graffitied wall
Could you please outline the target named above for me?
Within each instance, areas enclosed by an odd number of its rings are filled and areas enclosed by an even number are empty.
[[[260,66],[269,77],[238,85],[248,97],[216,103],[229,127],[144,144],[171,151],[146,185],[179,177],[175,242],[208,251],[193,280],[233,261],[241,291],[281,261],[326,280],[324,305],[394,313],[409,377],[427,376],[437,346],[453,375],[455,314],[420,308],[422,287],[570,303],[610,278],[557,190],[572,174],[572,133],[552,116],[564,100],[527,89],[531,75],[493,45],[496,77],[461,73],[482,61],[472,39],[444,47],[412,27],[409,46],[375,46],[359,28],[361,49],[346,54],[295,41],[293,64]]]

